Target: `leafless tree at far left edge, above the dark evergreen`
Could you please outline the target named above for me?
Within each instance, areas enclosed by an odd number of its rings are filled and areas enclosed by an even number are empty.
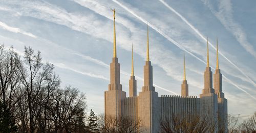
[[[20,56],[10,47],[0,46],[0,99],[11,112],[14,112],[14,106],[20,97],[16,97],[15,93],[20,88],[17,66],[20,62]]]

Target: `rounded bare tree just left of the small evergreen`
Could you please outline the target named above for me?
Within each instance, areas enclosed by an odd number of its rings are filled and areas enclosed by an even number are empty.
[[[64,90],[56,90],[49,104],[51,120],[55,132],[75,130],[77,123],[85,118],[86,99],[77,88],[70,86]]]

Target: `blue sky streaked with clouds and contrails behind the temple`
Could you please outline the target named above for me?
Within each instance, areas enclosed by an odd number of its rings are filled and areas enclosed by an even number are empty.
[[[132,44],[137,92],[143,86],[147,25],[153,82],[161,95],[181,95],[183,58],[189,95],[204,85],[207,37],[209,62],[219,68],[228,113],[242,118],[256,111],[256,1],[68,0],[0,1],[0,43],[20,54],[30,46],[52,62],[61,86],[86,93],[88,110],[104,112],[104,91],[113,57],[116,10],[120,81],[128,96]]]

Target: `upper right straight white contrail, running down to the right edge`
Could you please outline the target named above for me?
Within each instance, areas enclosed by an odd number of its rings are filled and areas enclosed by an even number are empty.
[[[165,7],[167,7],[170,11],[174,12],[176,15],[178,15],[191,29],[193,29],[204,41],[207,42],[207,39],[192,25],[190,24],[185,17],[183,17],[180,13],[178,13],[175,9],[170,7],[167,3],[165,3],[163,0],[159,0]],[[209,42],[209,45],[216,50],[214,45]],[[223,55],[220,51],[219,54],[224,57],[229,63],[231,63],[236,69],[238,69],[247,79],[252,83],[253,86],[256,86],[255,82],[249,78],[241,69],[238,68],[236,64],[234,64],[231,60],[229,60],[225,55]]]

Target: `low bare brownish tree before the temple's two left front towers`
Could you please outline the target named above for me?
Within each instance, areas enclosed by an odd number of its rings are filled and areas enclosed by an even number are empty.
[[[141,120],[134,122],[129,117],[112,117],[99,115],[100,132],[142,132]]]

